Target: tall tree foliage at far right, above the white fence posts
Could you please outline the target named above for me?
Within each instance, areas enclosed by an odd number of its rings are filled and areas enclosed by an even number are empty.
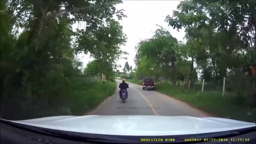
[[[202,79],[220,86],[226,77],[236,87],[235,91],[241,87],[235,85],[236,80],[230,74],[240,77],[242,82],[253,78],[250,67],[256,63],[255,4],[255,1],[183,1],[171,16],[167,15],[169,26],[178,31],[185,28],[187,43],[183,47],[192,59],[190,74],[195,61]],[[238,73],[237,69],[242,71]],[[253,87],[255,82],[249,82],[248,86]],[[251,95],[254,91],[250,88]]]

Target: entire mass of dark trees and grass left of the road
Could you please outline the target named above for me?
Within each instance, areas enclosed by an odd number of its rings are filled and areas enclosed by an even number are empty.
[[[1,118],[82,115],[113,94],[116,61],[126,54],[119,3],[0,1]],[[81,53],[94,59],[85,70]]]

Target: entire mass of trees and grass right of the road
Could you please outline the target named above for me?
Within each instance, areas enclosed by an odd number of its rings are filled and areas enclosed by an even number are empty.
[[[151,77],[156,90],[191,106],[255,122],[255,4],[180,2],[165,21],[173,29],[185,29],[185,40],[178,42],[157,26],[153,37],[135,46],[136,68],[127,81],[141,84],[143,78]]]

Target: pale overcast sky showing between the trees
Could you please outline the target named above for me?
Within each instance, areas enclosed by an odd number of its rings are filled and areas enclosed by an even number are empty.
[[[123,69],[124,64],[128,61],[129,65],[133,68],[135,57],[135,45],[141,41],[141,39],[150,38],[153,36],[157,25],[160,25],[170,31],[173,37],[178,41],[183,41],[185,36],[184,30],[179,32],[172,27],[168,26],[165,22],[165,18],[168,14],[172,15],[172,11],[177,9],[180,1],[127,1],[124,0],[123,4],[116,6],[118,10],[124,9],[124,14],[127,18],[120,20],[120,24],[123,26],[123,32],[127,35],[127,42],[125,46],[121,46],[123,51],[129,53],[127,60],[121,59],[117,63],[122,66],[119,70]],[[92,58],[89,55],[78,55],[78,58],[83,62],[84,67]]]

